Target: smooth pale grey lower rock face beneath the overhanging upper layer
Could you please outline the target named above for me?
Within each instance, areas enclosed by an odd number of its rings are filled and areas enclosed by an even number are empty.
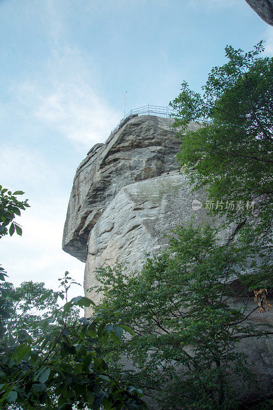
[[[127,262],[133,271],[140,270],[145,253],[158,251],[167,243],[164,233],[181,221],[194,219],[202,223],[208,219],[204,209],[192,209],[193,199],[202,201],[204,194],[193,194],[189,182],[178,171],[122,188],[90,232],[84,275],[84,289],[90,289],[88,296],[95,302],[99,300],[93,290],[96,268],[118,261]]]

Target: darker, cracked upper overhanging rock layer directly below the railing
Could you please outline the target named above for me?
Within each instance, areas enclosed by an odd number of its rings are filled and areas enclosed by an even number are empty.
[[[117,193],[133,182],[178,169],[180,141],[172,123],[170,118],[133,115],[105,144],[90,149],[74,178],[63,233],[65,252],[85,262],[89,233]]]

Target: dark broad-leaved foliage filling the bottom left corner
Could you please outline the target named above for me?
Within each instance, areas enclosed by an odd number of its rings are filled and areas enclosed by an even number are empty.
[[[50,298],[51,294],[52,291],[45,293],[38,302]],[[62,294],[60,291],[59,296]],[[107,334],[108,323],[101,321],[100,314],[71,320],[71,312],[77,306],[90,304],[92,301],[85,297],[73,298],[39,322],[36,315],[33,320],[24,312],[22,315],[27,317],[20,318],[22,327],[17,316],[14,320],[12,315],[7,318],[4,338],[0,342],[1,408],[145,408],[139,397],[140,390],[128,383],[121,385],[108,375],[107,364],[98,347],[98,340]],[[13,332],[6,337],[6,332],[12,328]],[[115,342],[119,342],[121,333],[122,327],[115,326]]]

